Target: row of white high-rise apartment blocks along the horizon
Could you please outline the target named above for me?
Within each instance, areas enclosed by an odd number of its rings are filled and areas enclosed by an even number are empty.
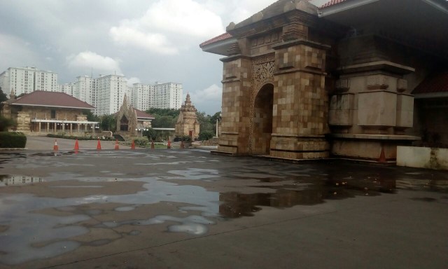
[[[0,87],[6,95],[27,94],[36,90],[64,92],[95,107],[94,114],[109,115],[120,110],[125,95],[134,108],[180,109],[181,83],[134,83],[122,75],[77,76],[76,81],[59,84],[57,73],[36,67],[9,67],[0,73]]]

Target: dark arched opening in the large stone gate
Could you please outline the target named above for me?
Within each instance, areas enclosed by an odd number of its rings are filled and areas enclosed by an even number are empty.
[[[266,84],[258,91],[253,104],[253,154],[269,154],[272,137],[273,104],[274,85]]]

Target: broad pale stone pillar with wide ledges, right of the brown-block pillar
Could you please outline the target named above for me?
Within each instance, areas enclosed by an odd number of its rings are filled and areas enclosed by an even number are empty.
[[[329,123],[332,155],[361,160],[393,161],[397,146],[418,137],[412,127],[414,97],[405,94],[403,74],[412,72],[394,62],[367,62],[341,68],[332,92]]]

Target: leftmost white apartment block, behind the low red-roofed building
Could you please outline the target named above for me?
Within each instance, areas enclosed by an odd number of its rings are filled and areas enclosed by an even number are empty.
[[[43,71],[36,67],[10,67],[0,74],[0,87],[6,95],[11,90],[15,95],[34,92],[34,90],[59,91],[57,73]]]

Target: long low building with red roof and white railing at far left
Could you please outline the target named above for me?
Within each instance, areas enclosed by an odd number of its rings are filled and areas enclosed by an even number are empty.
[[[57,133],[57,132],[94,132],[98,122],[87,120],[86,111],[94,106],[80,101],[64,92],[36,90],[22,97],[1,103],[1,115],[12,118],[20,132]]]

